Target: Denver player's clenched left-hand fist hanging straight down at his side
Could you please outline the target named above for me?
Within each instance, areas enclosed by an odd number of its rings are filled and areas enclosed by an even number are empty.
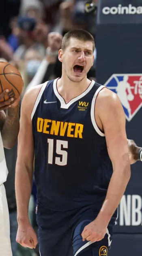
[[[34,232],[34,229],[28,224],[20,224],[17,230],[16,242],[22,245],[23,247],[28,247],[30,249],[35,249],[38,243],[37,235]]]

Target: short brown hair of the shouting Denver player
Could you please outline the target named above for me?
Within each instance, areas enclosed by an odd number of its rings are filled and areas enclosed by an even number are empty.
[[[84,42],[90,41],[90,42],[93,43],[93,51],[95,49],[94,38],[93,38],[93,36],[89,32],[87,32],[84,29],[74,29],[74,30],[70,30],[69,32],[67,32],[65,34],[65,36],[62,38],[61,49],[63,51],[65,51],[65,49],[69,45],[70,38],[76,38],[76,39],[84,41]]]

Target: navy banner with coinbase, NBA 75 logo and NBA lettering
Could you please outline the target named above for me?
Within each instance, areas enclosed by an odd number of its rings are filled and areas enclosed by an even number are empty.
[[[142,1],[100,0],[97,9],[97,82],[116,92],[126,115],[127,138],[142,145]],[[142,243],[142,166],[118,207],[109,256],[139,255]]]

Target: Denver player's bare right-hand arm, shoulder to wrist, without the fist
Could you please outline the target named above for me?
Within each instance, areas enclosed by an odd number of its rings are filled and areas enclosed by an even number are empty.
[[[103,89],[96,100],[97,116],[112,161],[113,174],[108,192],[97,219],[108,225],[110,218],[118,207],[131,175],[127,136],[125,131],[125,114],[118,96],[108,89]]]

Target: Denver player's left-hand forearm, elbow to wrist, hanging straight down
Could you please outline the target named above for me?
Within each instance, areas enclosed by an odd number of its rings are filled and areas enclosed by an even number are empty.
[[[15,194],[17,202],[17,221],[29,221],[28,207],[32,191],[33,168],[18,162],[15,172]]]

